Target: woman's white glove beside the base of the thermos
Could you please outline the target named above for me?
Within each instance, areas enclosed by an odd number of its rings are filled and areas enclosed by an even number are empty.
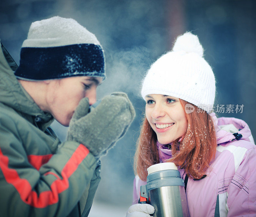
[[[126,217],[151,217],[149,214],[154,212],[155,208],[150,204],[133,204],[129,207]]]

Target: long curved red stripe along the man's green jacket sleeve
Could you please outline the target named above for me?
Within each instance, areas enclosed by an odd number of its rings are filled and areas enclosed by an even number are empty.
[[[36,208],[44,208],[59,201],[58,195],[69,187],[68,178],[76,171],[77,167],[88,153],[89,150],[84,145],[80,144],[62,169],[62,179],[56,179],[51,184],[51,190],[43,191],[39,195],[37,195],[36,191],[32,190],[28,180],[20,178],[15,169],[8,167],[9,158],[2,153],[1,149],[0,168],[6,182],[15,187],[23,202]]]

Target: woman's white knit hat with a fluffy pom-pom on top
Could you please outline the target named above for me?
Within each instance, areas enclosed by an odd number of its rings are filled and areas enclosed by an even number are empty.
[[[188,101],[207,113],[215,98],[215,78],[203,58],[198,37],[189,32],[179,36],[172,51],[159,57],[142,81],[141,95],[163,94]]]

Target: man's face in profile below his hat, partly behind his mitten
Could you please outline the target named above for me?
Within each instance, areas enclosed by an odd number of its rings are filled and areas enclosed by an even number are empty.
[[[63,126],[68,126],[81,99],[87,97],[90,105],[96,102],[99,77],[77,76],[51,80],[46,93],[48,112]]]

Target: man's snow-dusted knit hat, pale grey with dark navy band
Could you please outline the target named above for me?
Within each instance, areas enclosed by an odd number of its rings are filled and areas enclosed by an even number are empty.
[[[105,79],[105,57],[94,34],[74,19],[57,16],[31,24],[14,74],[22,80],[71,76]]]

